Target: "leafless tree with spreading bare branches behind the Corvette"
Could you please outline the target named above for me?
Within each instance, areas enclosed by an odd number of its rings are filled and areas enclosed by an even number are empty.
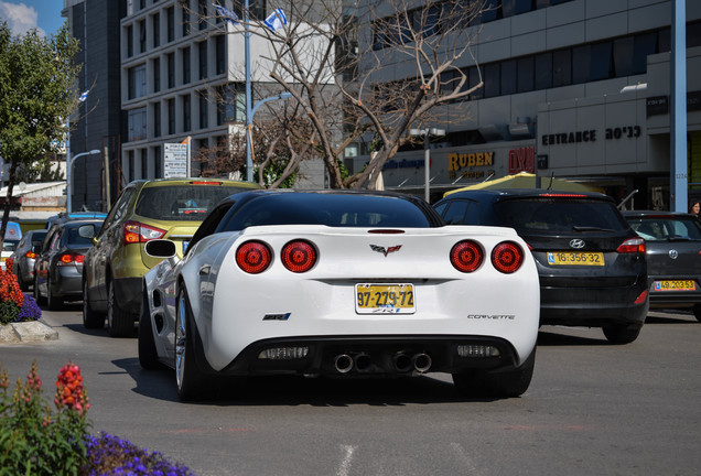
[[[252,29],[270,43],[270,77],[292,94],[309,117],[332,187],[375,186],[411,127],[431,123],[438,107],[481,88],[470,84],[470,23],[479,1],[288,0],[278,6],[288,23]],[[406,74],[397,80],[396,71]],[[375,138],[368,165],[343,177],[345,148]],[[310,140],[311,141],[311,140]]]

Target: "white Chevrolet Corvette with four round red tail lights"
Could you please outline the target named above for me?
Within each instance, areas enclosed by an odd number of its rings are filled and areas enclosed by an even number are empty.
[[[183,400],[220,377],[449,372],[468,396],[530,385],[538,273],[510,228],[444,226],[419,198],[252,191],[169,240],[143,281],[139,360]]]

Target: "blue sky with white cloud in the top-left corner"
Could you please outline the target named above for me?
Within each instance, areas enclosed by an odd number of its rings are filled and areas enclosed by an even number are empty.
[[[63,0],[0,0],[0,22],[7,22],[15,36],[34,28],[48,36],[66,20],[62,9]]]

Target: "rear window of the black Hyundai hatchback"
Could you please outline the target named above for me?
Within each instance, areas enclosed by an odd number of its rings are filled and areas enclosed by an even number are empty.
[[[498,202],[498,224],[522,235],[623,231],[627,228],[616,207],[587,199],[520,198]]]

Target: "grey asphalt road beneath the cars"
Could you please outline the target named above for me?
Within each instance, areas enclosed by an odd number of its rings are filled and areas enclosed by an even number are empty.
[[[640,337],[542,327],[530,389],[462,400],[450,377],[407,381],[268,378],[238,399],[177,401],[169,370],[143,371],[136,339],[85,331],[79,305],[44,311],[58,340],[0,345],[11,380],[33,359],[53,392],[83,368],[95,433],[164,453],[198,476],[699,475],[701,324],[650,313]],[[226,390],[226,389],[225,389]]]

